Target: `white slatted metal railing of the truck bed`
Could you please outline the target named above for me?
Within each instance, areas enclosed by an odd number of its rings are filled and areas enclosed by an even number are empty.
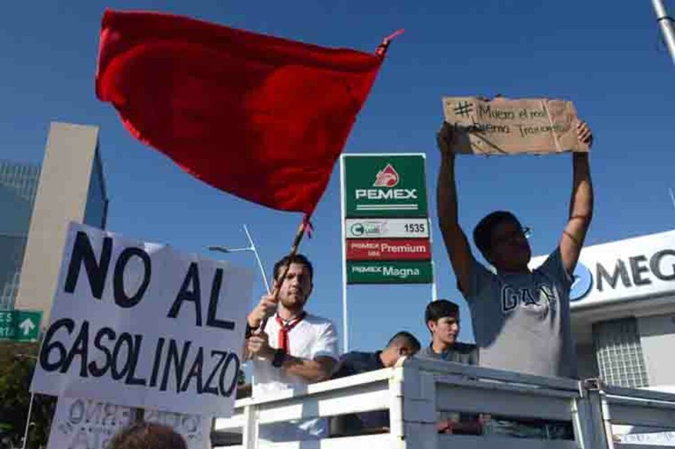
[[[376,410],[389,411],[388,433],[284,443],[264,443],[258,438],[259,426],[265,424]],[[436,423],[447,413],[563,421],[571,423],[574,439],[438,434]],[[675,394],[414,357],[402,359],[394,368],[311,384],[302,391],[240,399],[231,418],[216,420],[215,430],[242,433],[242,445],[230,446],[242,449],[640,448],[615,443],[612,424],[675,428]]]

